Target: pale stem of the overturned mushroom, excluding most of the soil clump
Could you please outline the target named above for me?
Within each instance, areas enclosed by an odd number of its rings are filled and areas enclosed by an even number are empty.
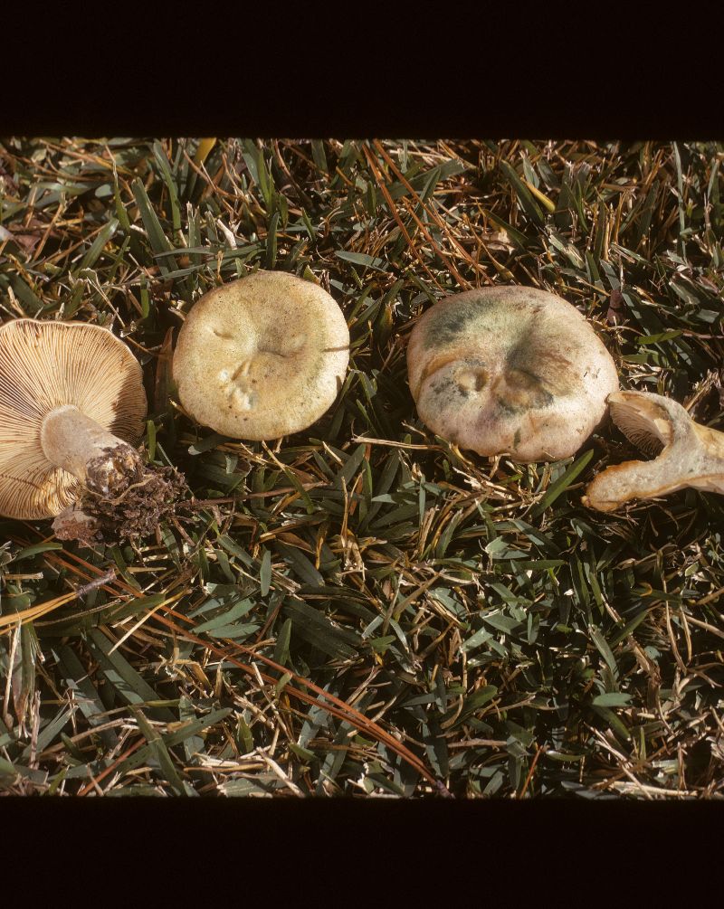
[[[121,492],[143,463],[132,445],[74,405],[56,407],[45,416],[40,444],[48,461],[104,496]]]

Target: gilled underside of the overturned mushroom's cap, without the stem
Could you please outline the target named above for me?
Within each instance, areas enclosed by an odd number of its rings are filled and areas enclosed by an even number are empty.
[[[108,329],[15,319],[0,326],[0,514],[59,514],[78,481],[44,454],[45,417],[59,408],[136,443],[146,416],[141,367]],[[79,417],[82,419],[82,417]]]

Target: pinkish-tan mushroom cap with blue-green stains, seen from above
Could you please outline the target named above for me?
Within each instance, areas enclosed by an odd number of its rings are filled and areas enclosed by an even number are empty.
[[[478,454],[554,461],[575,454],[618,389],[611,355],[578,310],[531,287],[448,296],[410,335],[417,412]]]

